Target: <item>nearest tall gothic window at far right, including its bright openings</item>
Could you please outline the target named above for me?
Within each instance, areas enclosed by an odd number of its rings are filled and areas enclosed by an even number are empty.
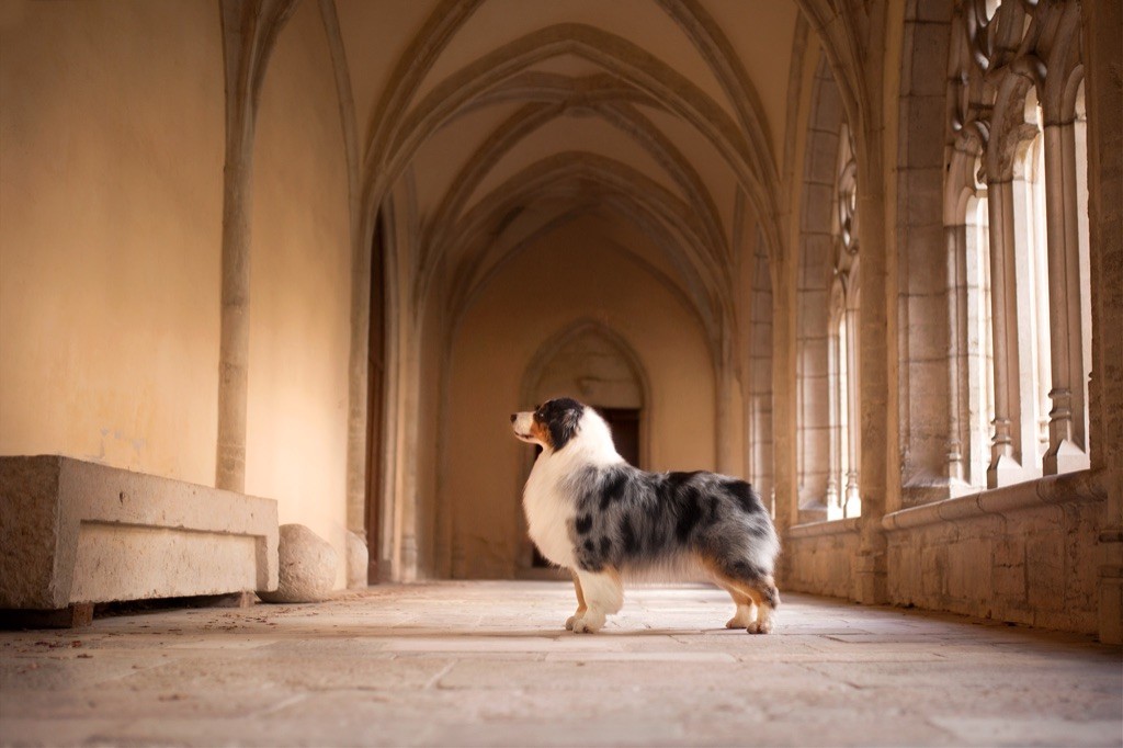
[[[956,7],[944,220],[957,255],[958,337],[948,451],[951,477],[974,485],[1088,465],[1079,27],[1076,0]],[[985,482],[984,413],[993,426]]]

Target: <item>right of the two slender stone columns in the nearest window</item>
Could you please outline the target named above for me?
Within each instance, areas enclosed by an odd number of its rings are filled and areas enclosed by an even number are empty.
[[[1049,325],[1052,332],[1047,475],[1088,466],[1084,435],[1084,337],[1074,130],[1072,122],[1044,128]]]

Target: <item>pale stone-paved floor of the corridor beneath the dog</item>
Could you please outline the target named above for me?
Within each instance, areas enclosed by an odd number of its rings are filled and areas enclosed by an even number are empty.
[[[0,632],[0,744],[1123,745],[1123,657],[1085,637],[785,595],[632,591],[595,636],[568,585],[442,583],[319,605]]]

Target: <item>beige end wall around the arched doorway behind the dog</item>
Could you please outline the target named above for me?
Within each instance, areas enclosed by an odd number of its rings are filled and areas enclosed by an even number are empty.
[[[583,319],[619,334],[648,374],[647,467],[714,469],[714,374],[700,322],[642,266],[570,225],[500,271],[453,344],[440,505],[453,518],[454,576],[514,573],[530,447],[511,436],[509,414],[535,404],[519,398],[542,344]]]

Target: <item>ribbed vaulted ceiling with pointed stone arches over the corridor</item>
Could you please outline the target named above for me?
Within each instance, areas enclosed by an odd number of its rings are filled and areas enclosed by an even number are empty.
[[[400,180],[454,304],[582,221],[716,325],[745,211],[773,215],[791,0],[338,0],[375,208]],[[713,328],[711,328],[713,329]]]

